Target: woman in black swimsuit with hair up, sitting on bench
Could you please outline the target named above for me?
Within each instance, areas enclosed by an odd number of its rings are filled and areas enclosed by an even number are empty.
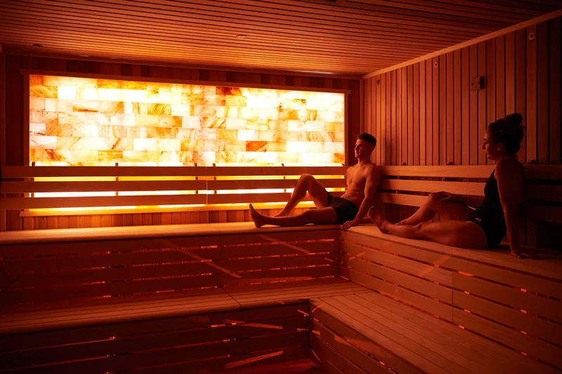
[[[399,224],[383,219],[375,207],[369,217],[383,233],[463,248],[495,248],[507,231],[511,254],[531,258],[519,249],[516,222],[524,195],[523,165],[516,160],[523,139],[522,121],[514,113],[488,125],[482,149],[495,161],[495,169],[485,184],[484,200],[431,193],[425,205]],[[443,220],[430,222],[435,214]]]

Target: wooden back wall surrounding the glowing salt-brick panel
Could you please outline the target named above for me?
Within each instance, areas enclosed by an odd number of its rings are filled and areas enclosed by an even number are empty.
[[[348,89],[347,124],[348,147],[355,144],[360,130],[360,108],[367,103],[360,103],[360,80],[332,77],[307,77],[301,75],[282,75],[261,72],[237,72],[223,70],[192,69],[190,67],[170,67],[155,65],[133,65],[128,63],[110,63],[88,60],[70,60],[20,55],[1,55],[6,59],[6,165],[18,166],[23,162],[24,139],[22,124],[25,101],[22,97],[23,80],[20,69],[49,70],[60,72],[82,72],[107,75],[121,75],[124,79],[165,78],[195,79],[201,82],[225,82],[230,84],[279,84],[295,87]],[[371,85],[370,85],[371,87]],[[373,85],[374,87],[374,85]],[[374,99],[374,94],[370,96]],[[368,105],[371,106],[371,105]],[[369,119],[368,123],[372,120]],[[353,154],[352,154],[353,155]],[[350,158],[350,165],[357,160]],[[303,209],[296,209],[301,212]],[[262,209],[263,214],[277,214],[280,209]],[[173,213],[138,213],[107,214],[58,217],[20,218],[18,211],[6,214],[7,230],[39,228],[78,228],[92,226],[139,226],[158,224],[199,224],[227,221],[249,221],[249,214],[244,211],[224,210],[216,212],[173,212]]]

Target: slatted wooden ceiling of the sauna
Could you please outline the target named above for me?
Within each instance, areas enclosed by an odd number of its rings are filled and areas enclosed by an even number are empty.
[[[366,74],[559,8],[561,0],[2,0],[0,45]]]

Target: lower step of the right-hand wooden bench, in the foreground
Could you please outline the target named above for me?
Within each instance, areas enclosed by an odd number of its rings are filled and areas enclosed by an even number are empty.
[[[378,292],[313,299],[311,313],[314,355],[346,374],[560,373]]]

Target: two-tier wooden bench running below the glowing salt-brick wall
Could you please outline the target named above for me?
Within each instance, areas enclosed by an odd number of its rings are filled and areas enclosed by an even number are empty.
[[[308,299],[366,291],[337,277],[339,236],[250,223],[6,232],[0,371],[245,373],[308,359]]]

